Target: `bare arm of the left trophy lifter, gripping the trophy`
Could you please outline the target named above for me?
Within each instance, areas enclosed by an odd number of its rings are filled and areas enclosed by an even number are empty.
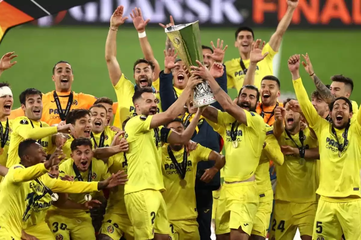
[[[156,128],[165,125],[172,121],[174,118],[178,117],[179,114],[182,113],[184,105],[186,104],[188,98],[191,96],[191,92],[201,82],[203,82],[201,78],[198,78],[197,76],[192,76],[188,80],[186,88],[183,90],[181,96],[179,96],[177,101],[175,101],[175,103],[173,103],[165,112],[153,115],[149,128]]]

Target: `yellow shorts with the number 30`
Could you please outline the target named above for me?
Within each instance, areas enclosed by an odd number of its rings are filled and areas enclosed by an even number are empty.
[[[52,213],[48,216],[48,224],[56,240],[95,240],[90,214],[73,218]]]

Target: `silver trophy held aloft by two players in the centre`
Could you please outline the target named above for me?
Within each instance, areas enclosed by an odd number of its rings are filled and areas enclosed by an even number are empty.
[[[182,59],[189,72],[191,65],[198,66],[196,60],[203,64],[203,53],[199,21],[194,23],[170,26],[165,29],[169,39],[173,42],[178,56]],[[200,108],[216,102],[208,83],[203,81],[194,89],[193,107]]]

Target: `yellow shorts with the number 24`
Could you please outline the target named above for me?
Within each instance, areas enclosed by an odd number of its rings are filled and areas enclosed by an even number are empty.
[[[293,239],[297,228],[300,231],[300,236],[312,236],[316,210],[316,201],[310,203],[291,203],[275,200],[270,239]]]

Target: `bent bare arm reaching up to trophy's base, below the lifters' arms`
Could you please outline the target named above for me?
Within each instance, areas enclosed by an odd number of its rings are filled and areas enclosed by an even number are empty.
[[[186,145],[189,142],[189,140],[191,140],[193,133],[196,130],[196,126],[198,124],[200,116],[202,115],[203,109],[204,107],[198,108],[196,115],[194,116],[194,118],[192,119],[186,130],[184,130],[182,133],[172,131],[167,138],[167,142],[169,144]]]

